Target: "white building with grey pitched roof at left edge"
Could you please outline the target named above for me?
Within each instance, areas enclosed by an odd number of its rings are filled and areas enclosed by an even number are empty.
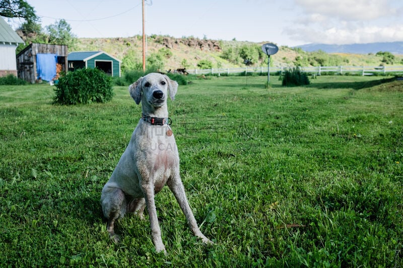
[[[8,74],[17,76],[16,48],[24,41],[0,17],[0,77]]]

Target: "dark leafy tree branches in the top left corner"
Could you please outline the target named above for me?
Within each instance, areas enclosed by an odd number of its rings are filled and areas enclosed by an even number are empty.
[[[28,24],[35,23],[39,19],[35,10],[24,0],[0,0],[0,16],[7,18],[22,18]]]

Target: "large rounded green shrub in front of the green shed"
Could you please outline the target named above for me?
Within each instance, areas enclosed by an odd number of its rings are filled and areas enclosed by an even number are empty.
[[[61,76],[54,92],[58,104],[104,103],[113,97],[112,78],[99,69],[79,69]]]

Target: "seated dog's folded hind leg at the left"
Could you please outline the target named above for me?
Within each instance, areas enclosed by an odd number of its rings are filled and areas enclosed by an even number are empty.
[[[122,190],[118,188],[103,189],[101,195],[102,211],[108,219],[106,229],[109,237],[114,242],[119,242],[120,238],[114,231],[115,220],[122,218],[126,212],[126,198]]]

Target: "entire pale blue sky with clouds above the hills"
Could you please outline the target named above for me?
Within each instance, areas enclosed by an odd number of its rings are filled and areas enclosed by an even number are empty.
[[[27,0],[42,26],[77,37],[142,34],[141,0]],[[173,37],[351,44],[403,41],[402,0],[147,0],[146,33]]]

